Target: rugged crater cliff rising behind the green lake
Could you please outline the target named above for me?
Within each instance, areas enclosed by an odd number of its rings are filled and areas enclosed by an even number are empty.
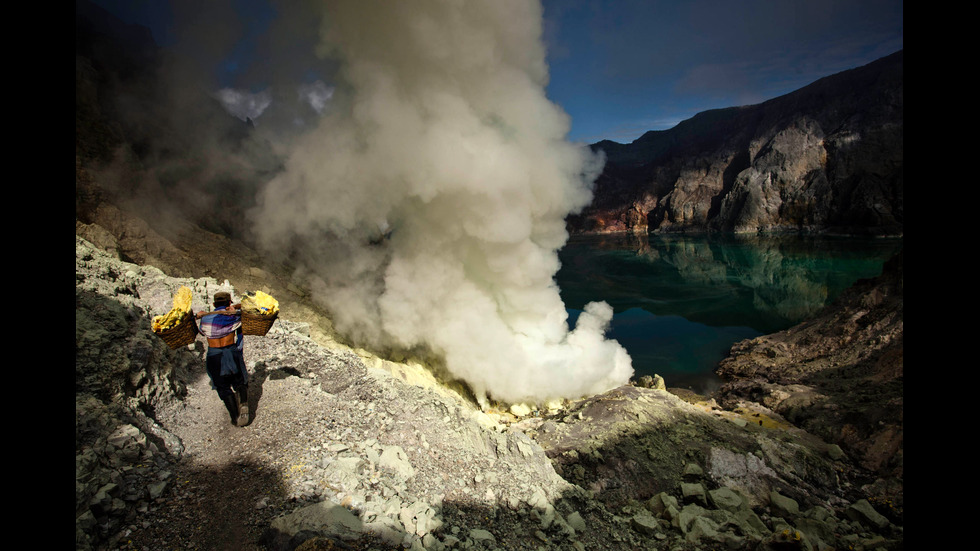
[[[765,103],[700,113],[606,167],[573,231],[903,232],[899,51]]]

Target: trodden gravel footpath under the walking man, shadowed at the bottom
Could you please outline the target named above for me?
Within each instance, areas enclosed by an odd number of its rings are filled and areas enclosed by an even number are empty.
[[[248,348],[246,363],[254,365]],[[231,424],[203,366],[191,374],[182,404],[156,412],[184,455],[172,491],[141,515],[144,528],[132,534],[132,548],[265,549],[258,544],[262,531],[289,507],[280,473],[288,472],[293,450],[315,445],[302,426],[323,406],[283,370],[250,372],[252,421],[245,427]]]

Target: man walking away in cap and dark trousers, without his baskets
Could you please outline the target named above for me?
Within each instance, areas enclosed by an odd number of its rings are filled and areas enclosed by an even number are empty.
[[[248,424],[248,369],[245,367],[241,304],[231,303],[231,293],[214,294],[214,311],[198,312],[201,334],[208,339],[205,359],[211,388],[225,403],[231,424]]]

